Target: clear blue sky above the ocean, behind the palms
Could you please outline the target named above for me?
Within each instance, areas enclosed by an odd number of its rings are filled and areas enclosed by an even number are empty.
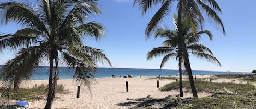
[[[211,31],[213,41],[205,36],[199,43],[212,50],[222,67],[190,56],[192,70],[251,72],[256,69],[254,32],[256,25],[254,4],[256,1],[216,1],[222,9],[222,14],[219,16],[224,22],[227,34],[223,35],[213,23],[206,21],[204,30]],[[156,9],[142,16],[138,5],[133,7],[133,0],[99,0],[99,3],[103,14],[93,16],[88,21],[103,23],[108,31],[100,41],[87,38],[84,43],[93,48],[103,49],[114,68],[159,69],[162,57],[147,60],[146,54],[153,47],[162,46],[164,39],[154,39],[152,36],[146,40],[144,35],[146,25]],[[176,8],[176,4],[172,4],[172,6]],[[175,12],[176,10],[173,9],[170,16],[167,16],[160,25],[168,25],[172,28],[172,15]],[[16,24],[2,24],[0,32],[13,33],[19,28],[19,25]],[[4,65],[12,56],[13,54],[9,52],[2,54],[0,65]],[[45,63],[45,65],[47,64]],[[99,67],[110,66],[99,65]],[[178,69],[178,62],[175,59],[169,60],[163,69]]]

